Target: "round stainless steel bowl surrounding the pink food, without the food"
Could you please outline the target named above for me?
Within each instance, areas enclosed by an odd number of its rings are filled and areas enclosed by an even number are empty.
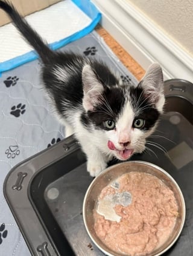
[[[153,165],[152,163],[142,161],[118,163],[117,165],[110,166],[109,168],[101,172],[101,174],[97,176],[90,184],[84,197],[84,225],[93,243],[95,243],[95,245],[98,246],[98,248],[101,251],[103,251],[104,254],[110,256],[125,255],[112,251],[112,249],[104,245],[103,241],[101,241],[100,238],[97,237],[94,230],[93,212],[96,209],[98,197],[102,189],[107,185],[110,185],[113,182],[115,182],[115,180],[121,177],[122,174],[131,171],[145,172],[147,174],[152,174],[156,176],[174,192],[174,196],[176,197],[177,205],[179,207],[179,215],[177,216],[176,225],[174,226],[172,234],[169,236],[168,240],[166,240],[166,242],[162,246],[156,248],[156,250],[154,250],[150,254],[145,254],[146,256],[161,255],[164,252],[166,252],[169,248],[171,248],[172,245],[174,245],[180,233],[182,232],[183,225],[185,223],[186,208],[182,191],[180,190],[179,185],[177,185],[176,181],[166,171],[164,171],[159,166]]]

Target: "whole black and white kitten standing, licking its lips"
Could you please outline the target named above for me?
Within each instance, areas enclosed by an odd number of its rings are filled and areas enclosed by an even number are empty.
[[[113,157],[142,153],[165,102],[160,66],[151,65],[134,87],[102,61],[52,51],[13,6],[0,1],[0,8],[42,59],[46,94],[66,136],[74,133],[86,153],[90,175],[97,176]]]

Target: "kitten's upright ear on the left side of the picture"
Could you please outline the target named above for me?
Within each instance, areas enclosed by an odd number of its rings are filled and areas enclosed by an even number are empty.
[[[100,102],[104,87],[97,79],[90,65],[83,67],[82,80],[84,93],[83,107],[86,111],[93,111],[95,105]]]

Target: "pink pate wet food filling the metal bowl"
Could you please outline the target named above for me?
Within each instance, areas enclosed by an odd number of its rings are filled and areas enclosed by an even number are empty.
[[[159,248],[171,235],[177,220],[178,206],[174,192],[157,177],[145,172],[128,172],[119,180],[119,188],[106,186],[100,200],[128,191],[131,203],[115,205],[119,222],[106,220],[94,212],[96,235],[115,252],[131,256],[147,255]]]

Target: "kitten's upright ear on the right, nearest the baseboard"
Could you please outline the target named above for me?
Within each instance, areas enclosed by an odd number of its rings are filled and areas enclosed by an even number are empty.
[[[163,73],[159,64],[151,64],[140,82],[145,95],[157,110],[162,112],[165,103],[163,94]]]

